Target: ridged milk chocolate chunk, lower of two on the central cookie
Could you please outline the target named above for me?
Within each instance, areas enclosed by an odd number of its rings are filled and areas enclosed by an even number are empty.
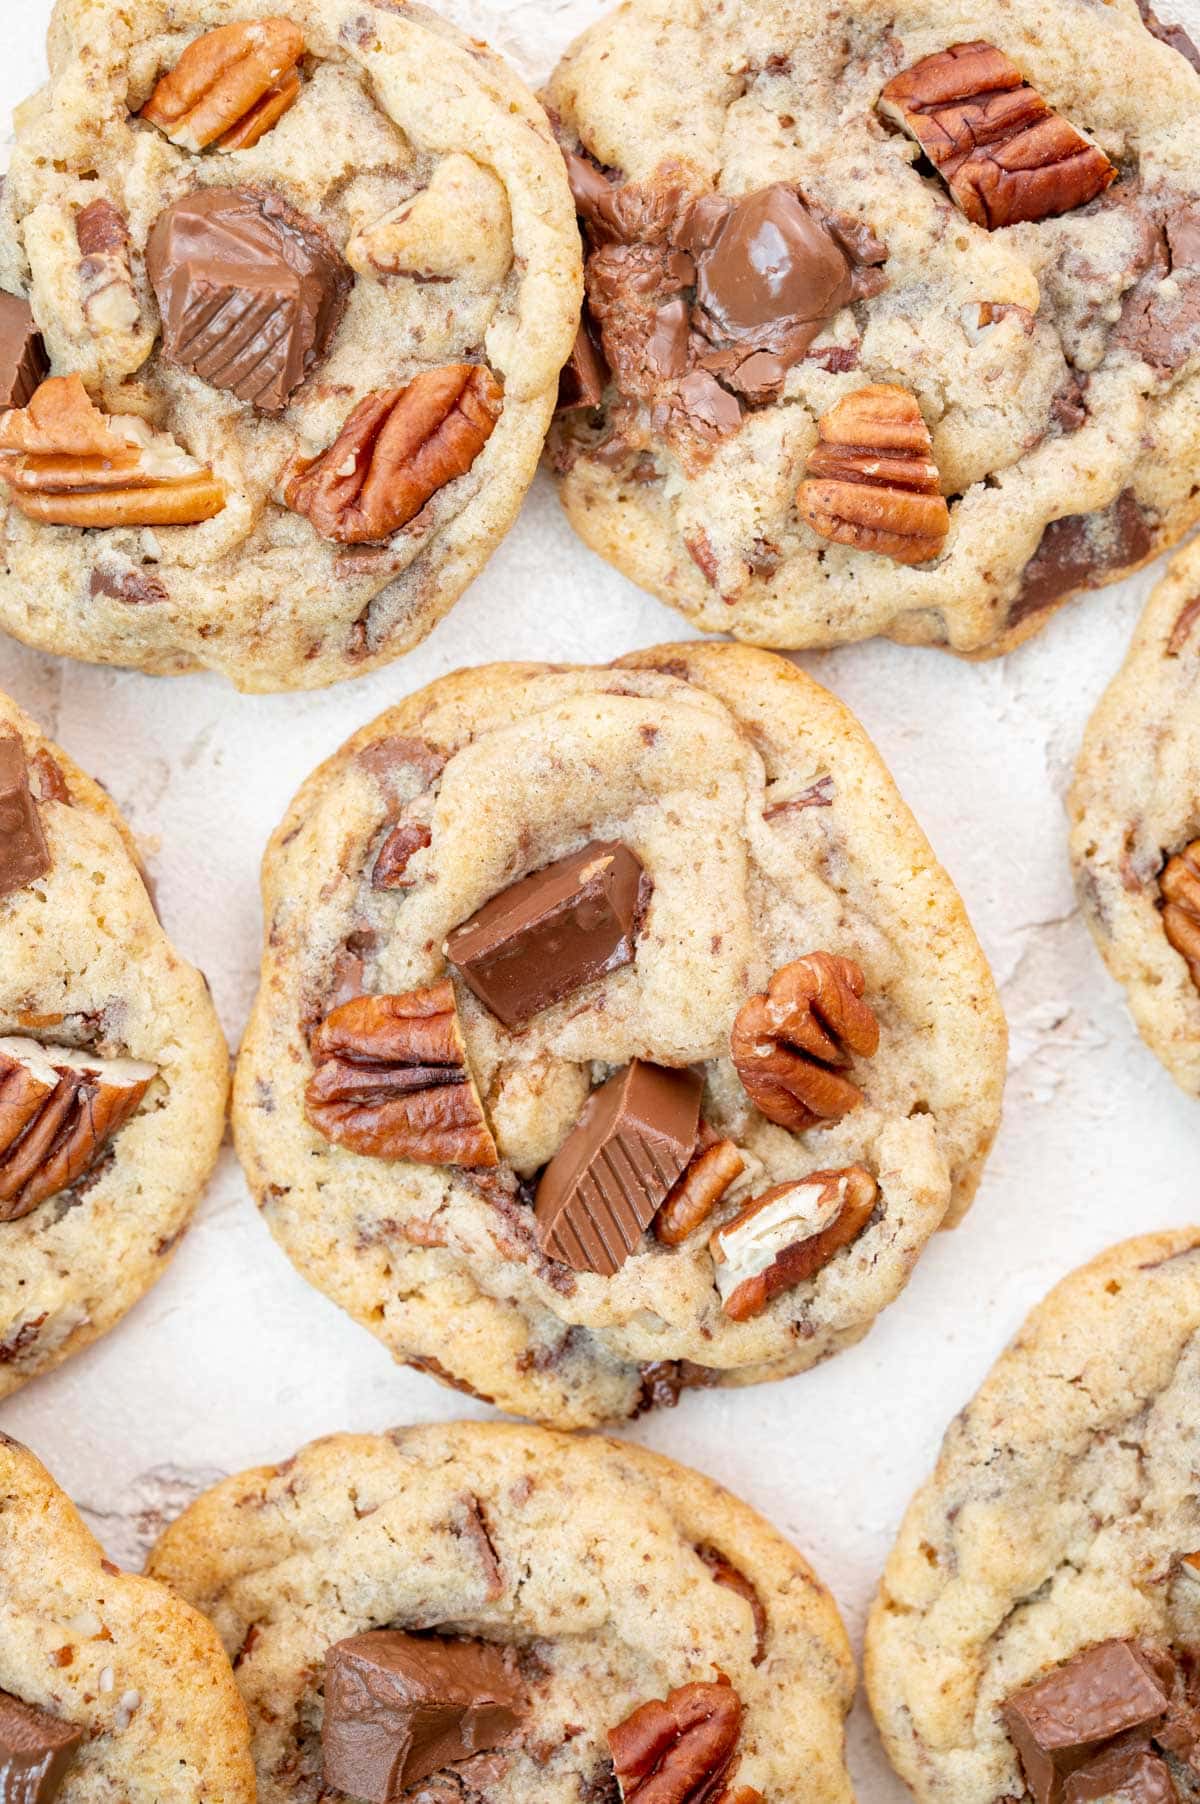
[[[545,1254],[574,1272],[621,1270],[695,1151],[700,1090],[695,1072],[633,1059],[588,1099],[538,1183]]]

